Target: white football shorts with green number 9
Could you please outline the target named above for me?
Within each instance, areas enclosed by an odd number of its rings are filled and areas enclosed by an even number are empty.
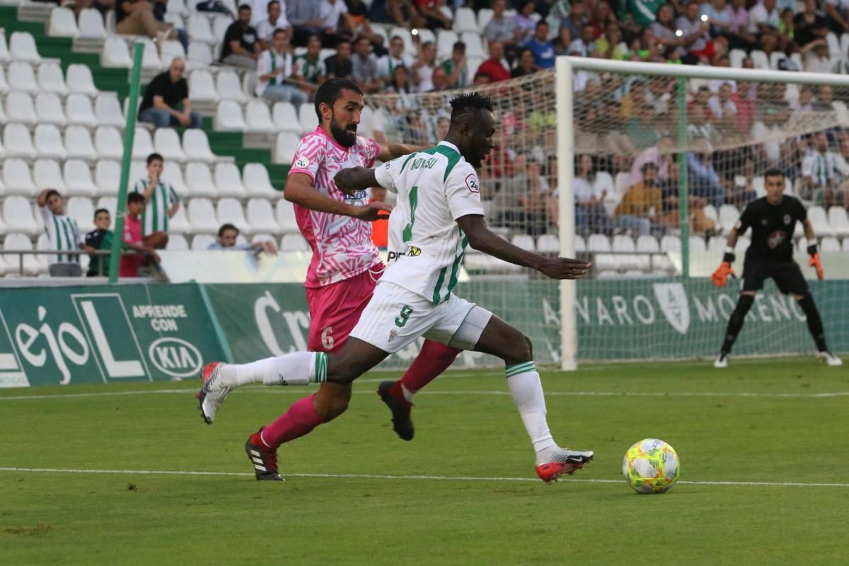
[[[394,354],[424,336],[458,350],[473,350],[492,312],[456,294],[434,305],[395,283],[378,282],[351,337]]]

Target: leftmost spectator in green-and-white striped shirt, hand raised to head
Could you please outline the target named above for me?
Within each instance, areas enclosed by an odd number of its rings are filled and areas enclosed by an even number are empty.
[[[82,249],[80,227],[76,220],[65,216],[65,199],[54,188],[46,188],[38,195],[38,210],[44,220],[44,230],[50,240],[50,249],[59,252],[48,258],[51,277],[82,277],[80,256],[63,254],[63,251]]]

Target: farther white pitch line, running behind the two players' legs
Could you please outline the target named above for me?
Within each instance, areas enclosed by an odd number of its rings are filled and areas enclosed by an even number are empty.
[[[304,395],[311,389],[299,387],[246,387],[242,393],[261,393],[277,395]],[[32,401],[40,399],[69,399],[76,397],[121,397],[123,395],[191,395],[197,389],[150,389],[147,391],[101,391],[98,393],[54,393],[45,395],[0,395],[0,401]],[[358,395],[374,395],[374,391],[357,390]],[[509,391],[433,391],[423,390],[416,395],[510,395]],[[761,399],[824,399],[831,397],[849,397],[849,391],[833,391],[825,393],[746,393],[721,391],[546,391],[547,397],[742,397]]]

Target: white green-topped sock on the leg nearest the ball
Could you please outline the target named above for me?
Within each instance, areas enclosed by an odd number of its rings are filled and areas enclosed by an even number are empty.
[[[525,423],[533,449],[537,452],[537,460],[542,459],[558,446],[545,419],[545,395],[537,367],[533,361],[526,361],[504,368],[504,373],[507,375],[510,395],[513,395],[522,423]]]

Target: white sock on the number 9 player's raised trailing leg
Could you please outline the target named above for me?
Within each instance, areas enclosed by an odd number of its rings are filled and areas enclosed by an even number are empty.
[[[323,352],[292,352],[231,367],[236,387],[245,384],[306,385],[327,380],[327,354]]]

